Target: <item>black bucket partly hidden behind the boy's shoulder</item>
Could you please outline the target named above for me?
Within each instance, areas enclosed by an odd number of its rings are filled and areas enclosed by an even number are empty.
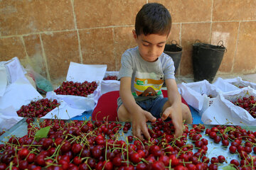
[[[174,43],[175,42],[175,43]],[[174,60],[175,74],[178,70],[178,65],[181,62],[182,47],[177,44],[176,40],[172,40],[171,44],[166,44],[164,47],[164,53],[169,55]]]

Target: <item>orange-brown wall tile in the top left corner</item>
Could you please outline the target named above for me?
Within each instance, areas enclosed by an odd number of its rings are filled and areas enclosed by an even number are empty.
[[[0,35],[23,35],[75,28],[68,0],[0,1]]]

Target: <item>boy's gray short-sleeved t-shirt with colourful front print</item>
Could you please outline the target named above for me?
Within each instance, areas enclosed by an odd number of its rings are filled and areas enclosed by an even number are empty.
[[[164,79],[175,79],[174,61],[164,52],[156,62],[146,62],[140,56],[138,47],[134,47],[124,52],[121,64],[118,79],[132,78],[132,95],[137,101],[162,96],[161,86]]]

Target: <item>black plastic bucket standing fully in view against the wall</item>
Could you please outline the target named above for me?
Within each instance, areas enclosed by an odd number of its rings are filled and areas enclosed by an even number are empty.
[[[219,43],[222,42],[221,45]],[[213,81],[220,63],[223,60],[226,48],[223,41],[218,45],[210,45],[205,43],[193,44],[193,77],[194,81],[208,80]]]

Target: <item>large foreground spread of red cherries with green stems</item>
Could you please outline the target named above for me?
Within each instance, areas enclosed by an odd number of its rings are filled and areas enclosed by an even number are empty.
[[[127,133],[129,123],[91,120],[43,120],[27,118],[28,135],[12,136],[0,145],[2,169],[174,169],[215,170],[255,169],[256,132],[240,126],[185,125],[183,135],[174,137],[174,125],[161,119],[149,124],[149,140],[138,140]],[[49,128],[46,136],[38,130]],[[208,135],[208,141],[203,135]],[[222,143],[229,148],[227,159],[220,152],[208,157],[208,143]],[[211,148],[212,149],[212,148]],[[252,150],[254,154],[252,153]]]

